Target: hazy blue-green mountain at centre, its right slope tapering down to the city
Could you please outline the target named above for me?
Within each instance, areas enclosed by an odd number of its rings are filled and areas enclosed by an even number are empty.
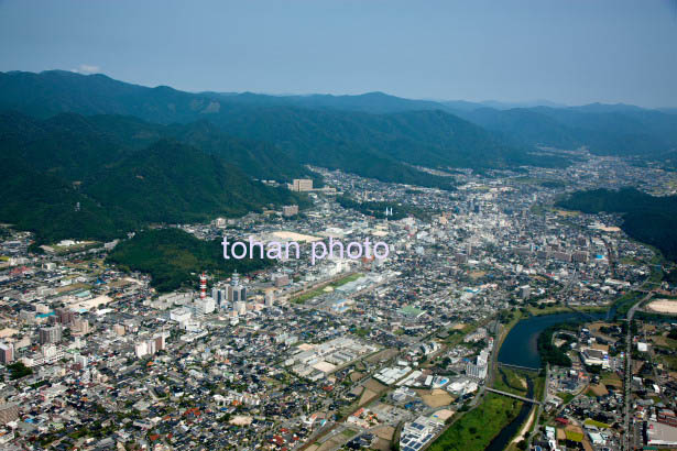
[[[228,134],[275,142],[293,160],[386,182],[428,186],[449,182],[402,162],[473,168],[566,164],[564,158],[545,158],[506,145],[439,110],[368,114],[284,108],[219,114],[210,120]]]

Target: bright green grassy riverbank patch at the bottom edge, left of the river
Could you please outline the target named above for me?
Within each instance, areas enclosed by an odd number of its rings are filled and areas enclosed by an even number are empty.
[[[493,393],[451,425],[433,444],[430,451],[481,451],[517,414],[522,403]]]

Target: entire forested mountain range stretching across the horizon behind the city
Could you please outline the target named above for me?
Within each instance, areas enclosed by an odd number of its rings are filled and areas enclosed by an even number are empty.
[[[677,114],[626,105],[510,108],[383,92],[195,94],[100,74],[0,73],[0,188],[10,194],[0,202],[0,220],[34,230],[43,241],[303,205],[303,197],[258,180],[309,177],[320,184],[306,165],[454,189],[452,177],[416,166],[563,167],[571,156],[543,147],[583,146],[670,158]]]

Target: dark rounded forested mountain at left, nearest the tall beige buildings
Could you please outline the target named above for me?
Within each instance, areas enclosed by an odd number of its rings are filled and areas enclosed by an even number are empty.
[[[295,200],[286,188],[269,188],[216,155],[168,140],[130,154],[81,189],[146,222],[243,216]]]

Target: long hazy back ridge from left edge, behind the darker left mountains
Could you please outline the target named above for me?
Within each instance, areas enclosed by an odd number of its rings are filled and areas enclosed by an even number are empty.
[[[534,155],[529,146],[506,144],[499,135],[444,111],[439,103],[383,94],[297,96],[282,101],[272,96],[145,88],[103,75],[53,70],[1,74],[0,109],[43,118],[59,112],[125,114],[165,124],[206,120],[228,135],[266,142],[299,164],[427,186],[445,186],[449,180],[403,163],[476,168],[566,163]]]

